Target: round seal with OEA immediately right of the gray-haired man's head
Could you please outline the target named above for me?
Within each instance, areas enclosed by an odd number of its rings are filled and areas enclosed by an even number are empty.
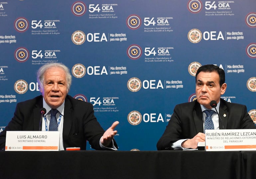
[[[72,74],[76,78],[83,77],[86,74],[86,72],[88,75],[108,75],[105,66],[88,66],[86,69],[86,67],[83,64],[77,63],[72,67]]]

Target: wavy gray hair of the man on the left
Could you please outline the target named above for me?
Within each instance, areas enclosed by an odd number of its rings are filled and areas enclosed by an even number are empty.
[[[47,63],[38,69],[37,82],[38,82],[39,88],[41,89],[43,87],[45,72],[48,69],[53,68],[53,67],[61,68],[64,70],[64,72],[66,74],[67,92],[68,92],[70,89],[70,86],[71,86],[72,77],[71,77],[68,67],[66,67],[63,63]]]

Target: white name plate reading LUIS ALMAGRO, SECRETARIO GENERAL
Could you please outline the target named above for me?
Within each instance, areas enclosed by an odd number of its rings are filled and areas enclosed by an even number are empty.
[[[59,151],[59,131],[6,131],[6,151]]]

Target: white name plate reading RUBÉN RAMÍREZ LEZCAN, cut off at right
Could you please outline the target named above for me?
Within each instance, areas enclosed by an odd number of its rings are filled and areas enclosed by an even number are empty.
[[[205,130],[205,150],[256,150],[256,129]]]

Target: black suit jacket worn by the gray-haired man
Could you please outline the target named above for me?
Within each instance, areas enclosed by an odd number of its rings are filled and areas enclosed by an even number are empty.
[[[14,117],[0,133],[1,150],[5,148],[6,131],[39,131],[42,107],[41,95],[17,104]],[[86,140],[88,140],[92,148],[101,150],[99,140],[104,132],[94,116],[92,104],[66,96],[63,123],[64,149],[80,147],[81,150],[86,150]],[[115,141],[114,145],[117,148]]]

